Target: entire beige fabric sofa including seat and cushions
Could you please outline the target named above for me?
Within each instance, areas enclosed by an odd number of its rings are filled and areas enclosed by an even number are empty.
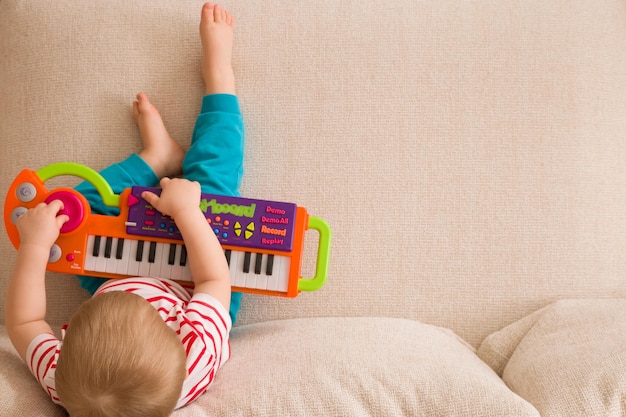
[[[0,0],[0,190],[139,150],[138,91],[187,146],[201,3]],[[232,358],[175,415],[625,415],[624,2],[224,5],[242,193],[325,219],[331,262],[317,292],[245,296]],[[48,292],[57,328],[87,296]],[[0,364],[0,415],[64,415],[4,331]]]

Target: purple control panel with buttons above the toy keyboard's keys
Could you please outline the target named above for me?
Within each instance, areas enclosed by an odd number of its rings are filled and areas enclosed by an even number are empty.
[[[160,188],[132,187],[128,196],[126,233],[182,240],[169,216],[141,198],[143,191],[160,195]],[[296,205],[277,201],[202,194],[200,209],[220,244],[290,252]]]

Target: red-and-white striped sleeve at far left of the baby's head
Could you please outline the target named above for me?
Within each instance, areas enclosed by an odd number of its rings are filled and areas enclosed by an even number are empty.
[[[26,359],[28,368],[52,401],[62,406],[54,382],[61,344],[55,335],[42,333],[30,342],[26,350]]]

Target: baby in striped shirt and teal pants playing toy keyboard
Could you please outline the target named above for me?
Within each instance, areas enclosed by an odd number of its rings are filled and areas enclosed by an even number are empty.
[[[203,6],[206,96],[189,151],[170,137],[157,109],[140,93],[133,112],[143,150],[101,173],[116,193],[160,179],[161,195],[142,197],[176,222],[194,288],[143,277],[83,282],[94,296],[74,314],[61,342],[45,321],[45,268],[68,220],[59,214],[63,203],[41,203],[17,220],[21,244],[7,290],[7,331],[39,383],[72,416],[168,416],[204,393],[230,356],[228,265],[199,202],[201,192],[236,195],[243,174],[233,24],[221,6]],[[170,179],[181,173],[185,179]],[[94,212],[105,211],[98,210],[101,203],[89,184],[77,189]],[[235,313],[237,296],[232,295]]]

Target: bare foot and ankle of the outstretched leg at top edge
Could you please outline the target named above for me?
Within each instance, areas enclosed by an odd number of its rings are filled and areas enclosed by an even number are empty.
[[[202,78],[206,94],[235,94],[232,67],[235,20],[222,6],[205,3],[200,19]]]

